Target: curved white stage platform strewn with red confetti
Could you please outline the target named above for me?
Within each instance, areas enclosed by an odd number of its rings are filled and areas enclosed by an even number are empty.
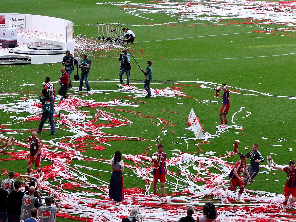
[[[56,63],[62,62],[66,50],[74,54],[73,22],[41,15],[0,14],[25,17],[25,25],[17,29],[19,46],[6,49],[0,45],[0,65]]]

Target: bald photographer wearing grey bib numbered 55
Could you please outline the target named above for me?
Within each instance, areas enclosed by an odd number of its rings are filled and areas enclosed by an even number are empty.
[[[38,193],[38,198],[34,197],[35,187],[30,186],[29,188],[29,195],[24,194],[22,198],[22,207],[20,211],[20,219],[27,219],[30,218],[30,212],[33,208],[38,209],[41,207],[42,200],[41,200],[41,193]]]

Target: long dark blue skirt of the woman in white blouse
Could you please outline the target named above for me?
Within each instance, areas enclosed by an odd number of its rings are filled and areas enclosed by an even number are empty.
[[[121,170],[113,170],[112,172],[109,187],[109,198],[114,201],[120,201],[124,199],[123,178]]]

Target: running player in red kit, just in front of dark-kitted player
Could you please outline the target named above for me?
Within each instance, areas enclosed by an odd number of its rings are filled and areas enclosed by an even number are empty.
[[[244,172],[247,173],[248,177],[252,181],[252,178],[247,170],[247,156],[245,154],[240,155],[240,160],[234,165],[234,168],[232,168],[230,174],[229,174],[229,181],[230,185],[229,187],[226,187],[225,185],[222,185],[223,190],[229,189],[232,191],[235,191],[237,189],[237,186],[239,186],[239,193],[237,195],[237,201],[240,202],[240,197],[242,195],[242,192],[244,191],[244,178],[241,178],[239,174],[242,172],[242,169],[244,169]]]

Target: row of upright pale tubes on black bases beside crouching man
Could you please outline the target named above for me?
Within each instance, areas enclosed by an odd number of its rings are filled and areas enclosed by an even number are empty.
[[[119,46],[122,47],[125,42],[123,41],[123,36],[121,36],[121,30],[122,30],[122,26],[120,28],[119,25],[116,25],[114,27],[114,24],[101,24],[99,25],[99,23],[97,23],[97,28],[98,28],[98,40],[102,41],[102,43],[104,44],[109,44],[112,46]],[[102,30],[102,36],[100,35],[100,29]],[[106,30],[106,36],[104,35],[104,29]],[[113,32],[111,32],[111,30],[117,30],[117,33],[119,32],[120,29],[120,33],[118,36],[115,36]]]

